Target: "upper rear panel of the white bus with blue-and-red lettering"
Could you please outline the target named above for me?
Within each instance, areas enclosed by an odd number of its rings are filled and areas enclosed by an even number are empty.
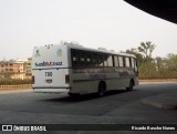
[[[67,58],[67,49],[64,45],[34,48],[32,55],[32,70],[69,68]]]

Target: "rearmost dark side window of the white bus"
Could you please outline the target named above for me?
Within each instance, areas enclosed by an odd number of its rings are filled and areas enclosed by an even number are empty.
[[[79,66],[79,52],[76,50],[71,50],[71,59],[72,59],[72,66]]]

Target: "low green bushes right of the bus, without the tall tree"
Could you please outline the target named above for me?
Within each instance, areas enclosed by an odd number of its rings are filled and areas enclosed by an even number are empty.
[[[177,79],[177,55],[171,54],[168,59],[144,61],[139,65],[139,79]]]

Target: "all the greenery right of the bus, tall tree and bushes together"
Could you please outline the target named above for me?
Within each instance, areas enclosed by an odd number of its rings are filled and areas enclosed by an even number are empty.
[[[142,42],[138,48],[126,50],[138,61],[139,79],[177,79],[177,54],[169,53],[167,59],[152,58],[156,45],[150,41]]]

